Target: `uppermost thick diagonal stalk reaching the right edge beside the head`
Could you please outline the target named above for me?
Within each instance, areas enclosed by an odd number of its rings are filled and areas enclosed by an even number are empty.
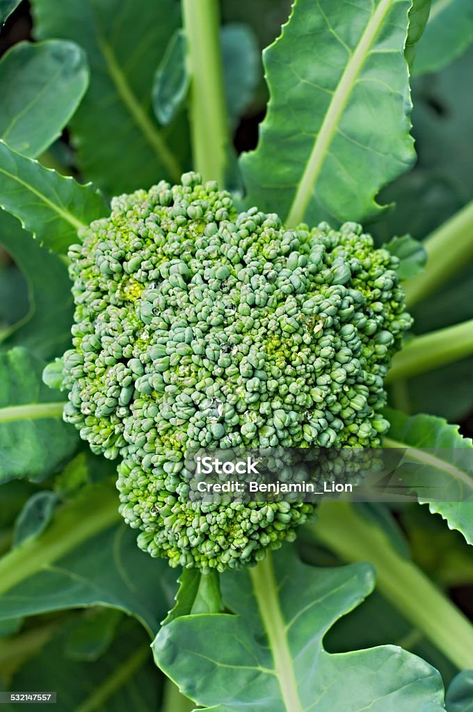
[[[409,307],[435,292],[473,258],[473,201],[433,232],[424,247],[425,271],[405,283]]]

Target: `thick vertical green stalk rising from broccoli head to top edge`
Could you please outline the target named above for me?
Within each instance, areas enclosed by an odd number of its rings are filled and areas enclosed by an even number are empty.
[[[223,187],[228,151],[218,0],[182,0],[194,168]]]

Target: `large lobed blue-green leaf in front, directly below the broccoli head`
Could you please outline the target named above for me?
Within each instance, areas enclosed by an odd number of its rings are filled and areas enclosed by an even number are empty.
[[[323,649],[328,629],[373,585],[368,565],[316,569],[286,547],[222,577],[224,602],[237,615],[175,619],[157,635],[155,659],[212,712],[442,711],[440,675],[402,649]]]

